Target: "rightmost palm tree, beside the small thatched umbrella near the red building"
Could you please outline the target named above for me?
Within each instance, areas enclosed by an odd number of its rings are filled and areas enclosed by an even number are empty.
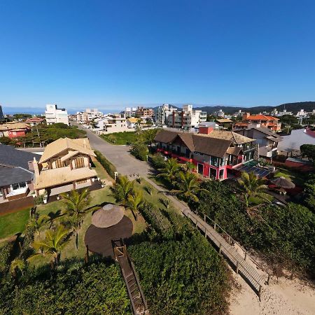
[[[238,180],[239,186],[241,186],[241,190],[243,191],[244,200],[246,202],[246,207],[248,208],[248,198],[249,197],[260,197],[269,202],[267,199],[267,193],[265,193],[265,189],[268,188],[265,185],[265,180],[258,178],[253,172],[241,173],[241,179]]]

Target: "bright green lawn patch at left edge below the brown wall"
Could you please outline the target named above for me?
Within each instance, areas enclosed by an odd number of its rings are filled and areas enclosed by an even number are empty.
[[[29,211],[30,209],[27,208],[0,216],[0,239],[23,232],[29,220]]]

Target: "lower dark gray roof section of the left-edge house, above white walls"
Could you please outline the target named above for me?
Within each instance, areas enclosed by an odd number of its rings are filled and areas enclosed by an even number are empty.
[[[3,167],[0,166],[0,187],[13,183],[31,181],[34,174],[22,167]]]

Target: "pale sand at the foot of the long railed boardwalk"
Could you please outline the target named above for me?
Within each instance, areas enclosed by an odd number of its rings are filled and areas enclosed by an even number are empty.
[[[237,286],[230,297],[230,314],[315,314],[315,290],[297,279],[272,279],[262,290],[261,301],[237,274]]]

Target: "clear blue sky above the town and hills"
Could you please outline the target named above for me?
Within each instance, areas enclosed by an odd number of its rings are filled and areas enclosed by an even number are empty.
[[[315,100],[314,0],[0,1],[0,104]]]

